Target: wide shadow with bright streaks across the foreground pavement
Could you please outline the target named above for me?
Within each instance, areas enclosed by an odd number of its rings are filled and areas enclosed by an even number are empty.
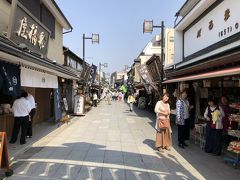
[[[146,140],[145,143],[152,147],[154,142]],[[65,143],[61,147],[32,147],[24,153],[24,156],[18,157],[12,165],[15,175],[8,179],[24,179],[24,177],[197,179],[174,157],[168,158],[158,153],[153,156],[106,148],[103,145],[85,142]]]

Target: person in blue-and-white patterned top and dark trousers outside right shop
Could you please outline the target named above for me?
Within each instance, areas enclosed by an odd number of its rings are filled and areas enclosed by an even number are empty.
[[[187,92],[183,90],[176,102],[176,124],[178,126],[178,146],[184,148],[188,146],[185,140],[190,136],[189,111],[193,108],[187,100]]]

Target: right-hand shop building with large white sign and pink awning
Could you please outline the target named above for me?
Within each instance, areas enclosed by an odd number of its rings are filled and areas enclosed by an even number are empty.
[[[203,119],[207,99],[221,96],[240,104],[240,1],[188,0],[177,12],[174,65],[167,88],[187,89],[195,122]],[[232,108],[231,113],[236,113]]]

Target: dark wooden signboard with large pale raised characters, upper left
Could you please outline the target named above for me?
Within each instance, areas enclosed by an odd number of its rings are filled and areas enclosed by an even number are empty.
[[[17,44],[25,44],[33,52],[46,55],[50,31],[19,2],[12,13],[10,39]]]

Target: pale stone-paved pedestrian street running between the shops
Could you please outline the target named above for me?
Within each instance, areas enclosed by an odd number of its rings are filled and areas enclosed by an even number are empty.
[[[15,158],[8,179],[239,179],[239,169],[190,142],[179,149],[174,137],[170,152],[153,150],[154,119],[136,107],[130,112],[124,102],[102,101]]]

